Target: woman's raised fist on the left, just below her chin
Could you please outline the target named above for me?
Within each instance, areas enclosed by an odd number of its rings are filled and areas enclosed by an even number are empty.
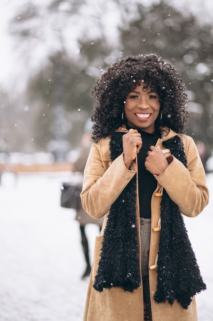
[[[124,163],[127,168],[130,167],[142,147],[142,138],[136,129],[131,128],[129,132],[123,135]]]

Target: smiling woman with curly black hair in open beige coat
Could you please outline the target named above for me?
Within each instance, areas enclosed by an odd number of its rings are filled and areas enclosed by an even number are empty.
[[[206,286],[182,214],[197,216],[208,189],[184,134],[185,86],[173,66],[148,54],[109,66],[92,94],[81,198],[104,224],[84,321],[196,321],[194,295]]]

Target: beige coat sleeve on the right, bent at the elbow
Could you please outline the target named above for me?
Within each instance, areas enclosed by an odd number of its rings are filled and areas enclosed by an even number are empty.
[[[205,171],[194,140],[185,135],[183,144],[187,168],[177,158],[170,156],[172,161],[168,168],[155,178],[184,215],[195,217],[208,204],[209,193]]]

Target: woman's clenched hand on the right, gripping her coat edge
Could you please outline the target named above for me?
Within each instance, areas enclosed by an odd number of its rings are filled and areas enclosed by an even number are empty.
[[[145,167],[153,175],[161,175],[169,166],[167,158],[165,158],[159,146],[150,146],[147,155]]]

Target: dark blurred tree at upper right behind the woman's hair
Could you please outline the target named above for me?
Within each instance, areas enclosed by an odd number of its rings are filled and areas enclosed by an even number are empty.
[[[124,55],[156,52],[174,64],[189,92],[187,133],[213,147],[213,26],[165,1],[137,5],[138,17],[121,27]],[[126,19],[125,19],[126,21]]]

